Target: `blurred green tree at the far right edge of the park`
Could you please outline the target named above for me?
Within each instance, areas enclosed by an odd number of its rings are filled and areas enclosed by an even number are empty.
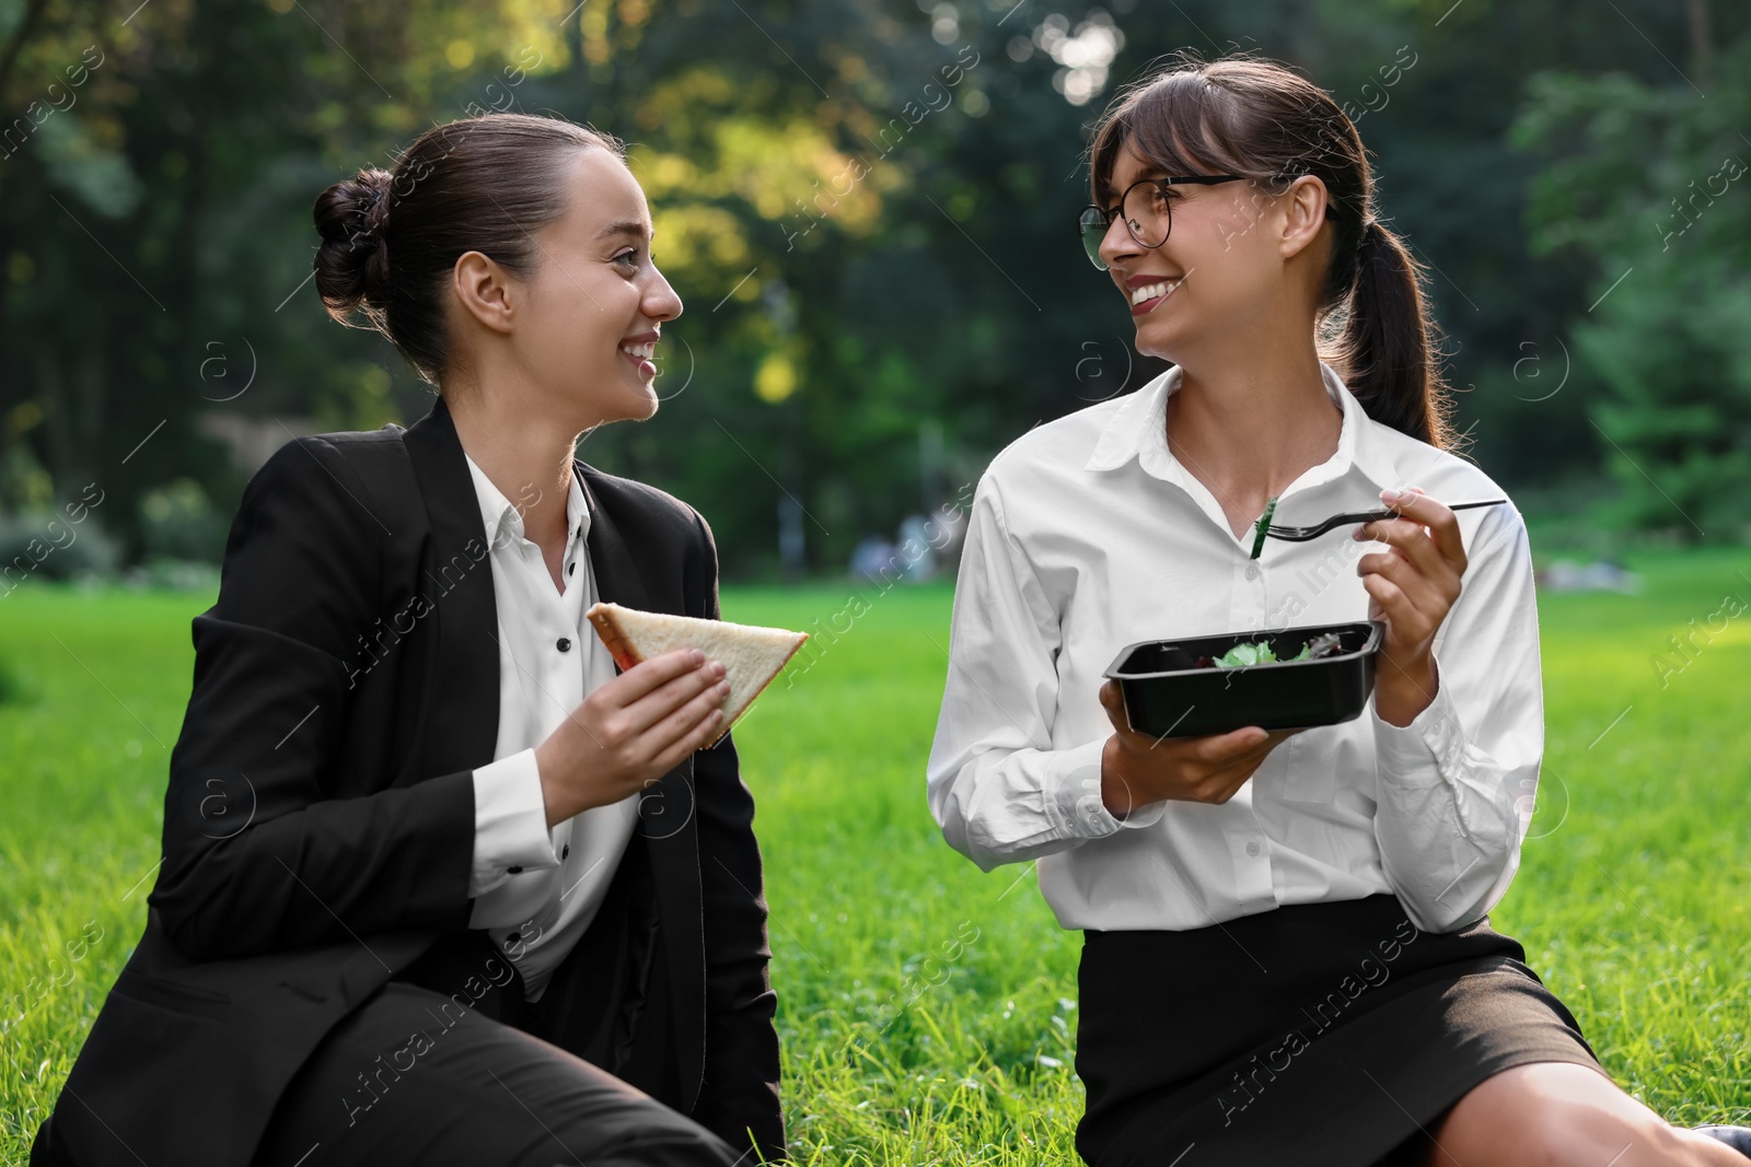
[[[1707,100],[1690,80],[1541,73],[1515,140],[1551,157],[1534,248],[1597,271],[1574,345],[1621,488],[1602,516],[1732,541],[1751,492],[1751,35],[1719,51],[1698,33],[1693,52],[1698,79],[1719,59]]]

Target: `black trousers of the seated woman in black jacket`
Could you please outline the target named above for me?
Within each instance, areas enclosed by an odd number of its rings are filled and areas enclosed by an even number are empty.
[[[611,896],[606,915],[623,903]],[[753,1151],[737,1157],[567,1052],[615,1060],[625,962],[585,955],[602,957],[625,929],[620,919],[599,924],[534,1004],[482,933],[440,941],[322,1039],[275,1108],[254,1167],[749,1164]],[[665,1045],[660,1031],[648,1036],[646,1050]],[[667,1081],[646,1059],[632,1062],[643,1080]]]

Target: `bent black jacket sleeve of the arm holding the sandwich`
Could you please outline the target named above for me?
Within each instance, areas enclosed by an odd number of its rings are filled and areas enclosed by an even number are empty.
[[[193,961],[468,927],[473,772],[331,796],[345,660],[378,616],[383,528],[340,450],[282,446],[243,492],[170,756],[151,903]]]

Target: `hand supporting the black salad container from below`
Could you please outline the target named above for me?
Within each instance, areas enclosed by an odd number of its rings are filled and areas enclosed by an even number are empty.
[[[1100,688],[1100,703],[1114,728],[1100,759],[1100,793],[1107,814],[1117,819],[1163,798],[1226,803],[1273,749],[1301,733],[1243,726],[1233,733],[1157,738],[1129,728],[1115,681]]]

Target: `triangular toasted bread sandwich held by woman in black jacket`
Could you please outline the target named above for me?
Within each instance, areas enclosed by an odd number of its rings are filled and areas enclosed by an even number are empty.
[[[807,632],[641,612],[618,604],[592,604],[585,616],[622,670],[674,649],[699,649],[706,660],[723,661],[723,679],[730,682],[730,695],[723,700],[723,730],[711,738],[711,745],[723,740],[735,719],[753,705],[762,689],[772,684],[772,677],[809,639]]]

